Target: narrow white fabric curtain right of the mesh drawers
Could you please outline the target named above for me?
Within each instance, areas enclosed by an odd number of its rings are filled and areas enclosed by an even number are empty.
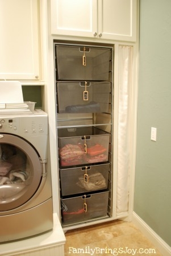
[[[132,46],[119,46],[118,180],[116,215],[128,212]]]

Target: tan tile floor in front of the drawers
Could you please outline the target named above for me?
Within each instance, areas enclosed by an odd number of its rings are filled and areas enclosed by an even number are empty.
[[[162,255],[132,222],[111,221],[68,230],[65,236],[65,256]]]

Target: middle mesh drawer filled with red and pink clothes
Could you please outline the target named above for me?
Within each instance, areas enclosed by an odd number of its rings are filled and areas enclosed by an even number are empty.
[[[61,166],[108,160],[110,134],[96,127],[58,129]]]

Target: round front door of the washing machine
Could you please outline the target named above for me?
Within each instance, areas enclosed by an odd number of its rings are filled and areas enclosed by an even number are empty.
[[[43,166],[35,148],[23,138],[0,134],[0,211],[25,204],[41,183]]]

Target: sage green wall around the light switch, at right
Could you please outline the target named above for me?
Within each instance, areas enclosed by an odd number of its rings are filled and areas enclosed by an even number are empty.
[[[134,211],[171,246],[170,0],[140,0]]]

